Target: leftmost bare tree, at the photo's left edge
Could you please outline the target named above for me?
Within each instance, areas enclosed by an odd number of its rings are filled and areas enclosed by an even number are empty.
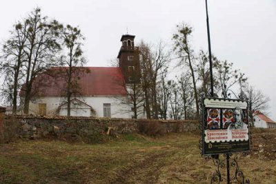
[[[2,88],[3,96],[12,105],[12,114],[17,113],[18,93],[23,79],[23,61],[26,54],[26,24],[18,22],[10,31],[11,37],[3,44],[0,71],[4,76]]]

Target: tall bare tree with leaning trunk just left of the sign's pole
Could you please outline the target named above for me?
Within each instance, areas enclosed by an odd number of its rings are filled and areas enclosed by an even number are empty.
[[[179,59],[181,59],[179,65],[184,63],[185,65],[188,65],[190,70],[190,75],[192,76],[193,82],[195,105],[197,108],[197,117],[199,117],[199,99],[197,94],[197,84],[194,69],[196,59],[194,57],[193,49],[190,45],[191,34],[192,28],[185,23],[181,23],[180,25],[177,25],[177,32],[172,35],[172,40],[175,42],[173,49],[178,54]]]

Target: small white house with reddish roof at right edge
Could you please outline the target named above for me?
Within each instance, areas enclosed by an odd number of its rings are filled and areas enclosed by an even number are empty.
[[[253,118],[255,127],[273,128],[276,127],[276,122],[262,114],[262,112],[255,112]]]

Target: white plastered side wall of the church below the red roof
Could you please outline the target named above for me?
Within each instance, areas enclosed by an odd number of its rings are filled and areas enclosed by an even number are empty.
[[[103,117],[103,103],[110,103],[110,114],[112,118],[126,118],[131,119],[133,112],[131,112],[130,105],[126,104],[125,96],[84,96],[77,98],[80,101],[90,105],[95,110],[95,116]],[[59,105],[65,102],[64,98],[61,97],[44,97],[35,103],[30,103],[30,113],[39,114],[39,103],[46,103],[46,114],[53,115],[57,114],[57,109]],[[66,109],[61,109],[59,115],[66,115]],[[88,115],[89,114],[89,115]],[[72,116],[91,116],[88,109],[83,110],[72,110]],[[141,114],[139,118],[143,118],[144,115]]]

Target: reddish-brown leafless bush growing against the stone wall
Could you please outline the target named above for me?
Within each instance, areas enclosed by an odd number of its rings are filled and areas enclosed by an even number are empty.
[[[148,136],[162,136],[166,133],[166,129],[157,121],[143,121],[139,122],[139,132]]]

